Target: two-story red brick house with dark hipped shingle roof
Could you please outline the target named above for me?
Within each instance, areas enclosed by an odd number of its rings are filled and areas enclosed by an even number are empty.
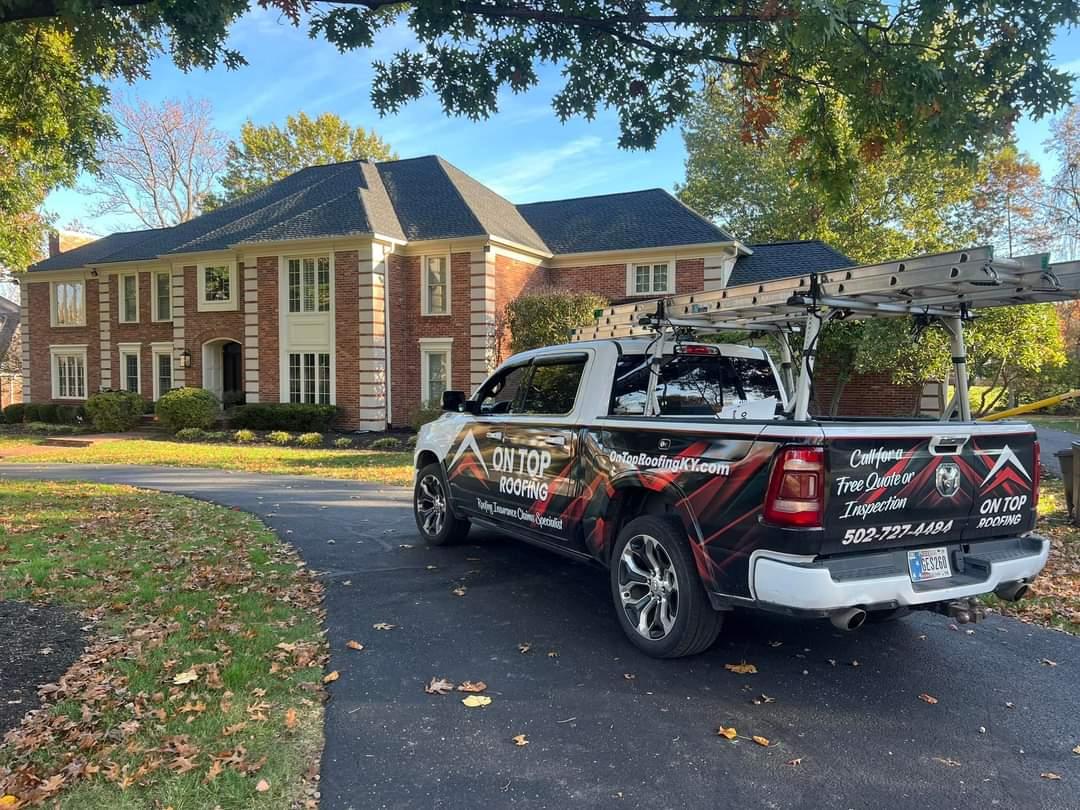
[[[523,292],[656,297],[850,264],[818,242],[743,245],[659,189],[514,205],[437,157],[312,166],[31,267],[26,399],[201,386],[381,430],[482,382]]]

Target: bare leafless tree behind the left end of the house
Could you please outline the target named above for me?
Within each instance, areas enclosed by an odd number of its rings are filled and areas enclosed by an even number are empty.
[[[144,228],[167,228],[199,216],[225,167],[225,136],[211,123],[206,100],[119,102],[120,137],[98,152],[96,213],[134,217]]]

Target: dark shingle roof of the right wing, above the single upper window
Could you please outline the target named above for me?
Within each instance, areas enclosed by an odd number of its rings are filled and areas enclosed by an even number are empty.
[[[518,205],[552,253],[732,242],[663,189]]]

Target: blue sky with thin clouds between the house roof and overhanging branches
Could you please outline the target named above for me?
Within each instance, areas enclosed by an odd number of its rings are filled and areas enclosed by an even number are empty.
[[[562,86],[555,67],[545,67],[540,85],[528,93],[508,93],[499,112],[487,121],[448,118],[433,97],[379,118],[369,100],[370,64],[410,41],[408,30],[399,25],[383,32],[375,49],[340,54],[325,40],[311,40],[302,28],[256,10],[237,24],[230,41],[244,54],[247,67],[184,73],[163,58],[153,65],[149,80],[131,86],[118,83],[113,91],[152,102],[207,98],[217,127],[230,137],[248,118],[264,124],[281,123],[299,110],[336,112],[354,125],[374,129],[403,158],[438,153],[518,203],[639,188],[671,190],[683,179],[685,150],[677,130],[665,133],[654,150],[643,152],[619,149],[612,111],[602,111],[593,121],[559,123],[551,109],[551,96]],[[1080,32],[1062,32],[1054,51],[1058,64],[1080,73]],[[1024,120],[1017,126],[1022,148],[1050,172],[1053,166],[1042,147],[1047,134],[1047,121]],[[60,225],[78,219],[96,233],[137,227],[116,216],[95,218],[73,189],[52,193],[46,210]]]

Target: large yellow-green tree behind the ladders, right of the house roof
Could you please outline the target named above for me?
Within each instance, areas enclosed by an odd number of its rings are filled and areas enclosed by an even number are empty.
[[[829,116],[842,137],[834,171],[845,173],[849,189],[838,197],[804,163],[806,113],[802,105],[784,107],[752,138],[738,111],[738,91],[708,87],[684,123],[679,198],[745,242],[821,239],[855,261],[971,244],[975,234],[964,215],[973,171],[899,146],[868,154],[836,107]]]

